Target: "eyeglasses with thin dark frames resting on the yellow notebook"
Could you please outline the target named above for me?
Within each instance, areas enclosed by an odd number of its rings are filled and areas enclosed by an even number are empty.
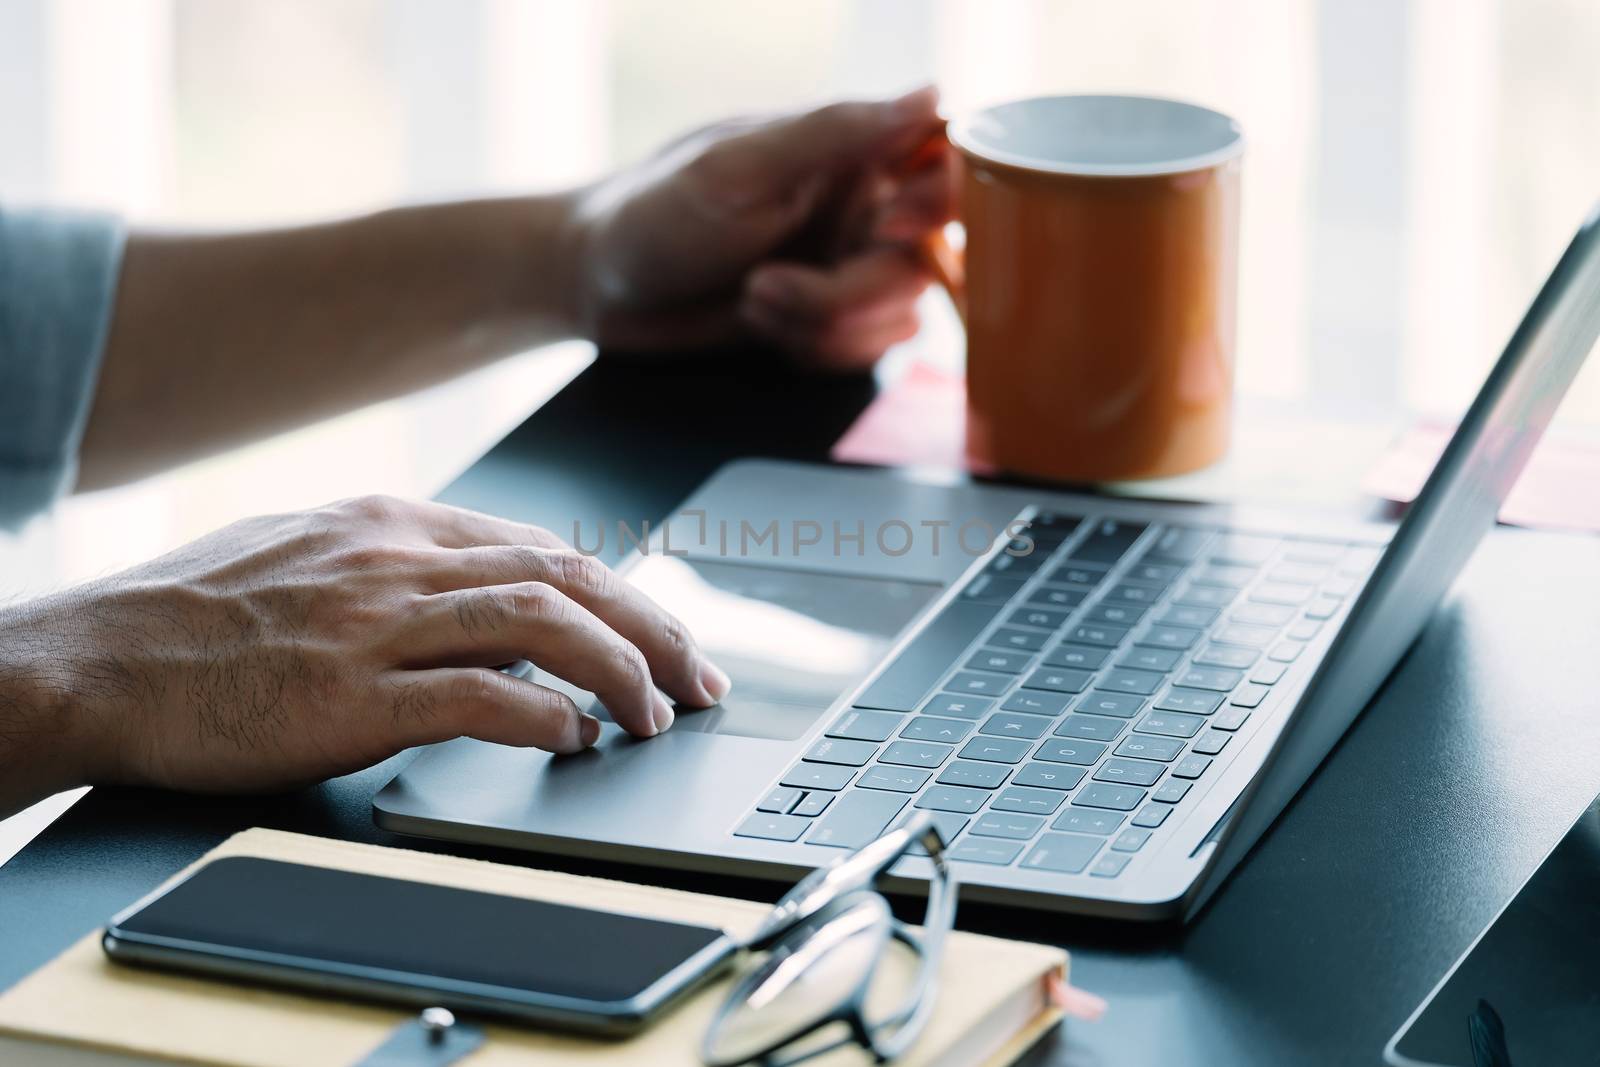
[[[933,862],[922,929],[890,912],[872,886],[920,845]],[[789,1067],[846,1045],[878,1062],[909,1049],[933,1013],[934,979],[955,921],[955,878],[926,813],[806,875],[742,944],[765,958],[712,1019],[701,1056],[709,1067]],[[899,945],[914,968],[894,960]],[[907,977],[907,973],[910,974]]]

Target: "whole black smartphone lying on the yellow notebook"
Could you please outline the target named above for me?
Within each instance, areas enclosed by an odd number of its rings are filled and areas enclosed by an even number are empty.
[[[246,856],[123,910],[101,944],[122,963],[616,1037],[734,953],[710,926]]]

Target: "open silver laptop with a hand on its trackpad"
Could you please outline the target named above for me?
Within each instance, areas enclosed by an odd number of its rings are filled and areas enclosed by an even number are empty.
[[[731,464],[648,539],[574,531],[642,539],[624,571],[733,677],[723,704],[573,757],[434,745],[374,817],[792,881],[925,809],[968,899],[1189,917],[1421,632],[1597,334],[1600,211],[1398,525]]]

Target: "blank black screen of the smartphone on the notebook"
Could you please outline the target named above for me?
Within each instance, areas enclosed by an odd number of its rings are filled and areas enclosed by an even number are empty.
[[[723,953],[712,945],[723,939],[706,926],[238,856],[206,864],[114,920],[107,950],[173,966],[186,966],[184,953],[195,965],[200,957],[264,961],[270,973],[262,977],[278,982],[285,966],[360,968],[390,981],[406,976],[402,984],[413,987],[470,982],[530,993],[534,1003],[613,1005],[702,953],[715,963]],[[157,957],[139,952],[150,945]],[[248,968],[229,969],[248,976]]]

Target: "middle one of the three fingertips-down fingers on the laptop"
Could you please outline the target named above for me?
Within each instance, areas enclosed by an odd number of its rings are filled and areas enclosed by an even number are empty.
[[[522,582],[458,589],[422,598],[397,633],[405,665],[491,667],[533,661],[594,693],[630,734],[672,725],[645,654],[554,585]]]

